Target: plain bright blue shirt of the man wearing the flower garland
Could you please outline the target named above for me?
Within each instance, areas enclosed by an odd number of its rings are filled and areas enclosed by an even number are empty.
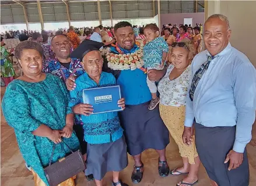
[[[135,45],[131,50],[121,48],[124,53],[132,53],[139,48]],[[111,52],[118,53],[114,47]],[[146,83],[146,74],[142,70],[121,70],[121,74],[117,79],[117,84],[121,87],[122,97],[125,98],[126,105],[139,105],[151,100],[152,95]]]

